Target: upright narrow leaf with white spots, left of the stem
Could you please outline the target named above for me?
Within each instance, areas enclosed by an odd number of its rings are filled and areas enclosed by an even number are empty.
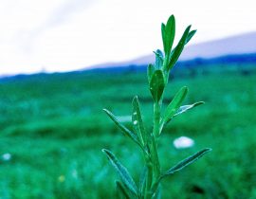
[[[146,130],[141,118],[137,96],[133,99],[132,104],[133,104],[132,121],[133,121],[134,131],[137,133],[140,143],[142,144],[142,146],[144,146],[146,141]]]

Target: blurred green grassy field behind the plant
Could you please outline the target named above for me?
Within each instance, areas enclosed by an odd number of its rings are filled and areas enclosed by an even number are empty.
[[[256,198],[256,73],[236,70],[175,77],[167,104],[183,85],[186,103],[204,100],[172,121],[159,143],[162,169],[202,148],[213,151],[163,183],[163,198]],[[214,68],[215,69],[215,68]],[[102,148],[111,149],[138,180],[143,161],[101,111],[125,125],[131,100],[140,99],[147,129],[152,99],[145,73],[69,73],[0,81],[0,198],[100,199],[115,197],[118,177]],[[192,148],[173,140],[189,136]],[[10,154],[10,159],[6,158]],[[134,170],[137,168],[137,170]]]

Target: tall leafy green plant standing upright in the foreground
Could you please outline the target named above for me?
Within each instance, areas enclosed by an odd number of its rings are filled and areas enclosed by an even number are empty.
[[[152,132],[147,132],[145,130],[137,97],[135,97],[132,102],[133,131],[127,129],[123,124],[121,124],[118,118],[116,118],[110,111],[103,109],[109,118],[119,126],[123,134],[130,137],[137,144],[142,151],[145,161],[144,170],[140,175],[139,185],[137,186],[127,169],[119,162],[119,159],[109,150],[102,150],[119,173],[120,182],[117,181],[119,198],[159,199],[161,197],[160,183],[164,177],[182,170],[204,154],[210,152],[210,149],[208,148],[203,149],[178,162],[165,172],[160,168],[157,153],[157,142],[159,140],[159,136],[161,136],[163,128],[174,117],[204,103],[203,101],[199,101],[191,105],[181,105],[188,93],[188,88],[184,86],[175,94],[174,99],[170,102],[167,108],[162,111],[163,94],[169,80],[170,71],[174,67],[174,63],[178,60],[184,46],[190,42],[196,30],[191,30],[191,26],[187,27],[178,44],[174,48],[174,15],[168,19],[166,25],[162,24],[161,31],[164,52],[159,49],[154,52],[155,63],[149,64],[147,72],[149,89],[154,100]]]

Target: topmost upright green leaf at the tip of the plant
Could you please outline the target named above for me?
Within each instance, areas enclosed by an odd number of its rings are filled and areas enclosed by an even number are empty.
[[[164,52],[166,57],[169,57],[170,55],[172,46],[174,44],[174,36],[175,36],[175,18],[174,18],[174,15],[172,15],[169,17],[165,27]]]

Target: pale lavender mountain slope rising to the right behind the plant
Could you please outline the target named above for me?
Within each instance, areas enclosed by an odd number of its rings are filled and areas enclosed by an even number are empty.
[[[179,61],[189,61],[197,58],[205,60],[229,55],[233,56],[254,53],[256,53],[256,32],[250,32],[196,45],[188,45],[184,49]],[[151,55],[145,55],[127,62],[103,63],[94,65],[93,67],[145,65],[154,63],[154,61],[155,56],[152,53]]]

